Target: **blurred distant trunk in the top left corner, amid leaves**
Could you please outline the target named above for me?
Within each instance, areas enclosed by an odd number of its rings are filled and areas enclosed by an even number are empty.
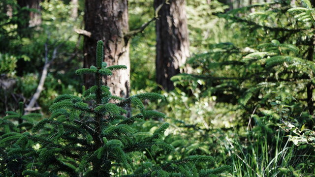
[[[41,0],[17,0],[19,6],[21,8],[27,7],[32,10],[25,10],[22,12],[22,18],[25,20],[23,24],[20,24],[21,28],[27,28],[27,27],[35,27],[41,24],[41,14],[40,14],[40,1]],[[34,12],[34,9],[37,10],[37,12]]]

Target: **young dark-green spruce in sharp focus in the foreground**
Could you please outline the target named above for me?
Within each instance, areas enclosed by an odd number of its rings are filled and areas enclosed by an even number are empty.
[[[111,95],[103,86],[102,75],[110,77],[124,65],[108,66],[103,60],[103,42],[97,42],[96,66],[78,69],[76,74],[94,74],[95,86],[83,92],[82,97],[63,94],[50,107],[51,117],[39,121],[32,133],[19,136],[16,153],[29,156],[32,161],[23,176],[29,177],[217,177],[229,166],[198,170],[199,163],[213,162],[213,157],[193,155],[169,162],[143,162],[132,159],[133,153],[146,151],[155,154],[174,148],[163,141],[168,123],[152,135],[137,134],[134,124],[164,115],[146,110],[142,100],[164,100],[157,93],[143,93],[126,99]],[[89,101],[92,104],[85,103]],[[139,114],[126,117],[124,107],[133,105]],[[45,130],[43,130],[45,128]],[[35,134],[39,132],[40,134]],[[139,137],[140,136],[140,137]],[[9,137],[9,136],[8,136]],[[26,151],[30,145],[36,145]],[[159,164],[159,165],[158,165]],[[210,165],[210,164],[209,164]],[[119,171],[117,169],[122,169]]]

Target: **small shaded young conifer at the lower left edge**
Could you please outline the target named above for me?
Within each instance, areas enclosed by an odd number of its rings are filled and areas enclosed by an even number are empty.
[[[28,143],[24,148],[19,147],[15,142],[23,136],[23,133],[30,132],[36,121],[42,116],[38,113],[25,114],[24,104],[19,103],[17,112],[7,111],[6,116],[0,118],[0,176],[21,177],[22,172],[32,166],[32,159],[29,156],[35,153]]]

